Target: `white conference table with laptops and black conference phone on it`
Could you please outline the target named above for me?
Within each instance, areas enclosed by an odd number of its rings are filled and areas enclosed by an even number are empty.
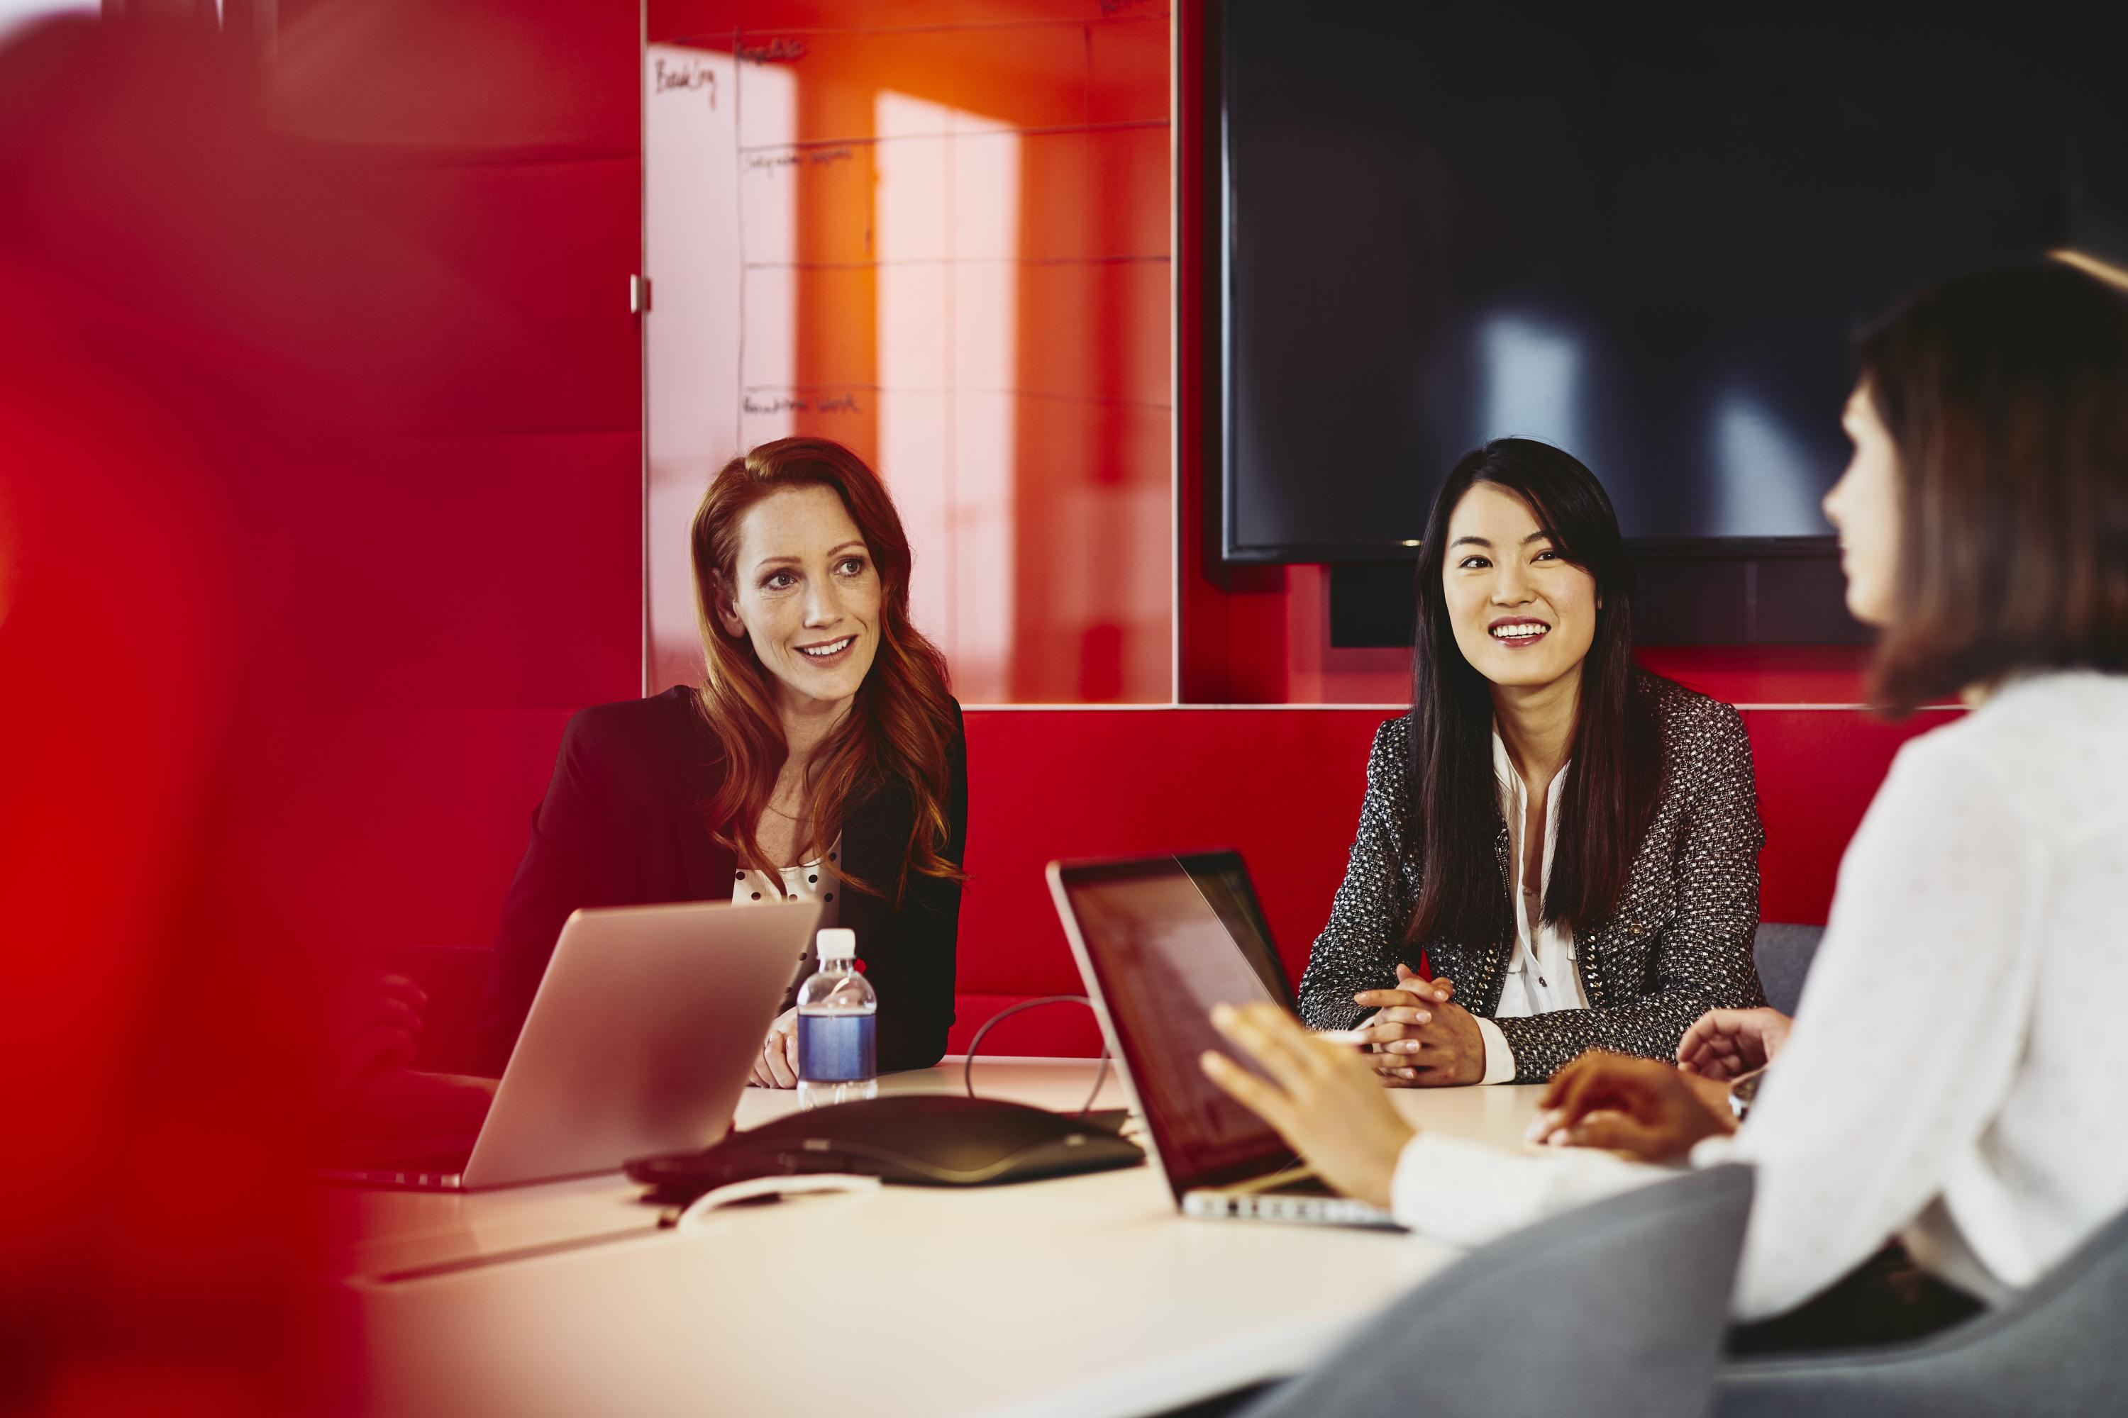
[[[983,1059],[977,1093],[1075,1110],[1092,1061]],[[960,1091],[960,1061],[881,1091]],[[1398,1091],[1522,1146],[1534,1086]],[[1098,1105],[1119,1108],[1113,1076]],[[738,1125],[796,1108],[749,1088]],[[464,1197],[334,1191],[336,1267],[389,1416],[1158,1414],[1304,1369],[1447,1265],[1436,1242],[1185,1220],[1151,1167],[796,1197],[658,1229],[621,1176]]]

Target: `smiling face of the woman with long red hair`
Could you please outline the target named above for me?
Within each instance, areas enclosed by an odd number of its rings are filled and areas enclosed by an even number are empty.
[[[738,523],[732,587],[717,608],[777,678],[787,710],[843,704],[879,651],[879,568],[832,487],[792,487]]]

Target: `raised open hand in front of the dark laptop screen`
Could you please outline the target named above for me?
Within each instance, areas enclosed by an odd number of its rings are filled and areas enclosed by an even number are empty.
[[[1270,1078],[1215,1050],[1198,1057],[1204,1076],[1275,1127],[1330,1186],[1387,1208],[1413,1129],[1377,1086],[1368,1054],[1315,1037],[1273,1003],[1213,1006],[1211,1023]]]

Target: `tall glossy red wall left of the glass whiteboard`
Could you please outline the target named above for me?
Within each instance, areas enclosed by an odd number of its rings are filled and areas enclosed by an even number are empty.
[[[485,946],[562,723],[641,689],[636,72],[632,0],[281,11],[272,121],[392,272],[349,274],[385,436],[345,514],[292,529],[375,587],[340,912],[377,946]]]

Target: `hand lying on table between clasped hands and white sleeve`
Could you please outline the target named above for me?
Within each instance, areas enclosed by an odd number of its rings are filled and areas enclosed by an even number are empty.
[[[1551,1076],[1530,1142],[1677,1161],[1705,1137],[1734,1133],[1728,1088],[1668,1063],[1590,1050]]]

